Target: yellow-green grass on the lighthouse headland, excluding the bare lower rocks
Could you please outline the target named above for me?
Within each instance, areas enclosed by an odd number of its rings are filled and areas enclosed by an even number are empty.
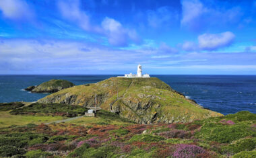
[[[42,98],[39,102],[45,102],[49,100],[49,98],[54,98],[57,95],[61,96],[61,99],[55,100],[55,102],[62,102],[68,94],[77,96],[73,104],[84,106],[85,104],[94,104],[94,95],[97,94],[98,96],[101,95],[105,97],[105,100],[100,103],[100,107],[110,111],[110,103],[113,103],[117,99],[117,89],[119,91],[119,100],[115,102],[113,106],[121,109],[121,116],[125,118],[132,117],[135,119],[137,117],[137,119],[139,119],[141,116],[145,115],[153,116],[156,112],[159,115],[158,118],[162,117],[161,119],[165,119],[174,117],[175,120],[179,120],[179,122],[188,122],[210,116],[222,116],[222,114],[205,110],[191,100],[187,100],[183,95],[176,93],[170,86],[155,77],[148,79],[111,77],[110,79],[94,84],[77,85],[63,89]],[[146,96],[139,97],[140,94]],[[151,95],[154,98],[147,97],[147,95]],[[130,101],[133,104],[147,104],[152,102],[153,106],[144,113],[133,111],[134,107],[125,104],[125,102]]]

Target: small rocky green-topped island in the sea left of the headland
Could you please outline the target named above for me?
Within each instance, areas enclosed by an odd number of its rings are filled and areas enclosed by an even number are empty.
[[[32,85],[27,87],[26,91],[31,91],[32,93],[54,93],[62,89],[73,87],[74,84],[70,81],[63,79],[51,79],[40,85]]]

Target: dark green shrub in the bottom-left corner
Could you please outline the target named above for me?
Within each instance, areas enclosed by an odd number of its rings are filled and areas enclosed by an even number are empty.
[[[0,157],[11,157],[13,155],[24,154],[24,149],[19,149],[10,145],[0,146]]]

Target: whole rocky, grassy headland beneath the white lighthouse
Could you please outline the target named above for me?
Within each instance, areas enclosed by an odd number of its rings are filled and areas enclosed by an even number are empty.
[[[158,78],[112,77],[94,84],[77,85],[48,95],[38,102],[97,106],[138,123],[191,122],[222,114],[187,100]]]

